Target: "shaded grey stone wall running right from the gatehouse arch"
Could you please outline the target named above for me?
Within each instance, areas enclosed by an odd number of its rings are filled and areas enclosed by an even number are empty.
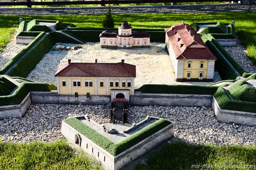
[[[130,96],[130,104],[135,106],[211,107],[211,103],[212,95],[135,93],[134,96]]]

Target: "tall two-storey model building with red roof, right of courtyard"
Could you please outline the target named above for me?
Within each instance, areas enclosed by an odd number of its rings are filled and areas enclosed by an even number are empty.
[[[184,22],[165,31],[165,45],[175,69],[176,81],[213,81],[216,57],[196,31]]]

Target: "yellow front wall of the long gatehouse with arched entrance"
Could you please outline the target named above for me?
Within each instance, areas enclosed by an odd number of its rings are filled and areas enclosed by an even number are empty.
[[[60,94],[69,94],[69,78],[67,77],[58,77],[60,81]],[[62,79],[66,80],[66,87],[62,87]],[[110,87],[110,80],[114,81],[114,87]],[[130,95],[132,94],[132,87],[121,87],[122,86],[122,80],[126,81],[126,86],[128,80],[131,82],[132,86],[132,79],[133,78],[108,78],[108,95],[111,94],[111,89],[129,89],[130,90]],[[73,80],[81,80],[81,86],[80,87],[75,87],[73,86]],[[93,81],[93,87],[85,87],[85,81],[86,80],[92,80]],[[101,80],[104,81],[104,87],[100,87],[100,82]],[[119,87],[115,87],[115,81],[119,81]],[[89,78],[83,78],[83,77],[72,77],[71,78],[71,94],[78,93],[78,94],[95,94],[95,78],[94,77],[89,77]],[[104,77],[99,77],[97,78],[97,94],[98,95],[107,95],[107,78]]]

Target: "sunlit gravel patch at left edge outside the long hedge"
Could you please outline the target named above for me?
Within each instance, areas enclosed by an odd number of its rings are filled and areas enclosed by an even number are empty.
[[[24,44],[16,44],[16,33],[14,33],[12,40],[3,48],[3,52],[0,53],[0,68],[15,57],[25,46]]]

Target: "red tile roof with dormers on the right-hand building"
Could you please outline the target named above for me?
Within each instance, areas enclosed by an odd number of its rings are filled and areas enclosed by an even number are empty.
[[[190,25],[175,24],[165,31],[176,59],[217,59]]]

